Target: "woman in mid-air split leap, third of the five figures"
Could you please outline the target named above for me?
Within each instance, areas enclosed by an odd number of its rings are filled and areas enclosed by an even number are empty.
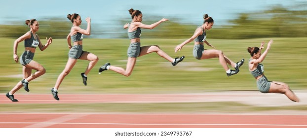
[[[171,62],[173,66],[176,66],[179,62],[184,60],[185,56],[182,56],[180,58],[177,57],[175,59],[171,58],[164,51],[162,51],[160,47],[157,45],[148,45],[148,46],[141,47],[141,39],[140,39],[141,28],[153,29],[156,26],[158,26],[160,23],[168,21],[167,19],[163,18],[160,21],[153,23],[151,25],[145,25],[141,23],[142,18],[143,18],[143,14],[141,11],[134,10],[131,8],[129,10],[129,13],[131,14],[132,21],[131,23],[127,23],[124,25],[124,29],[128,29],[128,37],[130,39],[130,46],[127,51],[128,62],[127,62],[126,69],[111,66],[110,63],[106,63],[105,65],[99,68],[99,72],[110,69],[124,76],[130,76],[135,66],[136,58],[144,56],[152,52],[156,52],[160,57]]]

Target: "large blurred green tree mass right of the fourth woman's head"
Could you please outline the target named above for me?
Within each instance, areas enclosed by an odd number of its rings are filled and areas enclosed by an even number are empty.
[[[296,6],[294,6],[296,7]],[[293,8],[293,7],[292,7]],[[306,37],[307,10],[290,10],[281,5],[256,13],[241,13],[229,26],[210,31],[211,38]]]

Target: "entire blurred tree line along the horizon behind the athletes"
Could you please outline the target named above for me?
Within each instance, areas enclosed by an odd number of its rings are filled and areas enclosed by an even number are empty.
[[[305,3],[304,3],[305,4]],[[144,24],[152,24],[162,17],[149,16]],[[214,17],[213,17],[214,18]],[[92,25],[91,38],[127,38],[126,30],[122,26],[131,19],[119,19],[118,25],[102,28]],[[170,19],[153,30],[142,30],[142,38],[189,38],[200,24],[182,24],[180,19]],[[66,38],[72,26],[71,22],[63,18],[47,18],[40,20],[38,35],[43,37]],[[86,28],[82,24],[81,28]],[[302,3],[270,6],[268,10],[255,13],[240,13],[237,19],[229,21],[229,25],[214,26],[208,33],[209,38],[216,39],[248,39],[260,37],[306,37],[307,9]],[[0,37],[17,38],[29,31],[24,22],[11,25],[0,25]]]

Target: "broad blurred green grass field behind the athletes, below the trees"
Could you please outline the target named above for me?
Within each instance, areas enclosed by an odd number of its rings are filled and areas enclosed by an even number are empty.
[[[173,67],[171,63],[151,53],[139,57],[133,73],[129,77],[107,70],[98,74],[98,69],[106,62],[126,67],[127,39],[84,39],[83,50],[99,57],[98,64],[88,74],[87,86],[82,84],[80,73],[84,72],[88,61],[78,60],[74,69],[64,79],[59,93],[202,93],[215,90],[257,90],[255,79],[247,68],[250,58],[249,46],[260,46],[261,41],[273,39],[269,54],[264,61],[265,74],[269,80],[288,83],[291,89],[307,89],[306,37],[302,38],[257,38],[242,40],[209,39],[209,43],[222,50],[233,62],[245,59],[237,75],[227,77],[217,58],[196,60],[192,56],[193,43],[178,52],[174,47],[185,39],[142,39],[142,46],[159,45],[171,57],[185,55],[182,63]],[[13,61],[14,39],[0,38],[3,50],[0,61],[0,93],[10,91],[22,79],[22,66]],[[42,40],[45,43],[44,40]],[[205,46],[205,48],[208,48]],[[18,56],[24,51],[19,43]],[[68,59],[66,39],[54,39],[45,50],[37,49],[34,60],[47,72],[33,80],[31,93],[49,93]],[[33,71],[34,72],[34,71]],[[25,92],[23,89],[20,92]],[[18,94],[18,93],[16,93]]]

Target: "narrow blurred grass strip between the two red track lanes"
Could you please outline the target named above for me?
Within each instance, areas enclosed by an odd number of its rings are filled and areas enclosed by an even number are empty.
[[[56,113],[242,113],[269,111],[307,111],[307,105],[258,107],[237,102],[142,103],[142,104],[0,104],[5,112]]]

